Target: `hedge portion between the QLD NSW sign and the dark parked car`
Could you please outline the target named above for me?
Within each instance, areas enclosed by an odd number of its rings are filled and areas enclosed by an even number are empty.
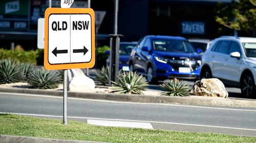
[[[107,50],[110,50],[109,46],[102,46],[97,48],[96,61],[98,68],[104,67],[106,65],[106,59],[109,56],[109,54],[105,53]]]

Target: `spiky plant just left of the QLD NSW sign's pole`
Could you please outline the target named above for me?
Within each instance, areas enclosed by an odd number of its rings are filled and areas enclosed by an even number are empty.
[[[56,71],[37,69],[30,74],[28,83],[35,89],[55,89],[59,80],[61,79]]]

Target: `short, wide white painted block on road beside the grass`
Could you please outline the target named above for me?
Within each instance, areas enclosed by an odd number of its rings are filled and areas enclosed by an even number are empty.
[[[144,128],[153,129],[150,123],[143,122],[127,122],[127,121],[110,121],[110,120],[87,120],[88,124],[112,127],[128,127],[128,128]]]

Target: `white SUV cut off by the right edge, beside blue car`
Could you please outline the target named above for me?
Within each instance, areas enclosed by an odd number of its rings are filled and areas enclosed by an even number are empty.
[[[219,78],[240,88],[245,97],[256,97],[256,38],[222,36],[205,51],[201,78]]]

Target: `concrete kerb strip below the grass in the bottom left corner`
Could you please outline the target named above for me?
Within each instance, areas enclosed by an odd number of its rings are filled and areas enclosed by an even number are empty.
[[[14,135],[0,135],[1,143],[9,142],[26,142],[26,143],[97,143],[98,141],[83,141],[83,140],[66,140],[66,139],[53,139],[53,138],[40,138],[28,136],[14,136]],[[100,143],[100,142],[98,142]],[[102,142],[103,143],[103,142]]]

